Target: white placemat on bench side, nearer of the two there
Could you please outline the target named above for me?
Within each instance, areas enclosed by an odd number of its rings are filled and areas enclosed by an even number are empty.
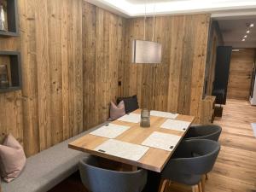
[[[90,134],[100,137],[115,138],[130,129],[130,127],[131,126],[108,124],[96,129],[96,131],[90,132]]]

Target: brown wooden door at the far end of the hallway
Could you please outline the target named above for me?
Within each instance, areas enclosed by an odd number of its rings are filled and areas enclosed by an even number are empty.
[[[249,100],[255,49],[240,49],[232,52],[228,98]]]

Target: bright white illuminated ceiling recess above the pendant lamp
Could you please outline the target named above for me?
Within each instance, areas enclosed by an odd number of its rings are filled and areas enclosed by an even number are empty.
[[[143,1],[146,0],[86,0],[89,3],[103,3],[108,5],[111,9],[117,9],[128,16],[142,16],[144,15]],[[155,1],[155,0],[154,0]],[[141,3],[132,3],[141,2]],[[202,13],[213,11],[225,11],[237,9],[253,9],[256,7],[255,0],[169,0],[169,1],[155,1],[157,8],[155,15],[165,14],[188,14],[188,13]],[[148,15],[154,15],[154,3],[152,0],[148,1]]]

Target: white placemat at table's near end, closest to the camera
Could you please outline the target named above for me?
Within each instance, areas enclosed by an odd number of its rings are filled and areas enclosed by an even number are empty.
[[[96,147],[95,150],[104,154],[124,158],[126,160],[137,161],[140,160],[148,151],[148,147],[132,143],[125,143],[115,139],[109,139]]]

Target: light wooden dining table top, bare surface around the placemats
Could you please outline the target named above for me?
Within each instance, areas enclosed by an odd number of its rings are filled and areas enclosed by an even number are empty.
[[[137,109],[132,113],[141,113],[141,109]],[[154,131],[158,131],[162,133],[169,133],[169,134],[180,136],[181,137],[180,141],[181,141],[186,131],[174,131],[174,130],[160,128],[160,125],[162,125],[166,121],[166,119],[167,118],[150,116],[150,127],[148,128],[141,127],[140,123],[130,123],[125,121],[120,121],[118,119],[114,120],[112,122],[113,124],[131,126],[129,130],[125,131],[115,139],[121,142],[141,145],[141,143],[143,143],[143,141],[146,138],[148,138]],[[176,119],[188,121],[191,125],[195,117],[178,114]],[[124,158],[119,158],[114,155],[104,154],[94,150],[96,147],[98,147],[102,143],[108,141],[108,139],[109,138],[107,137],[99,137],[99,136],[91,135],[90,133],[88,133],[84,135],[84,137],[80,137],[79,139],[73,141],[72,143],[69,143],[68,147],[73,148],[75,150],[82,151],[82,152],[86,152],[88,154],[100,156],[108,160],[118,161],[121,163],[125,163],[127,165],[141,167],[143,169],[154,171],[154,172],[161,172],[163,168],[166,166],[167,161],[171,158],[173,152],[175,151],[175,148],[172,151],[166,151],[159,148],[149,147],[148,151],[143,155],[143,157],[140,160],[134,161],[134,160],[127,160]]]

